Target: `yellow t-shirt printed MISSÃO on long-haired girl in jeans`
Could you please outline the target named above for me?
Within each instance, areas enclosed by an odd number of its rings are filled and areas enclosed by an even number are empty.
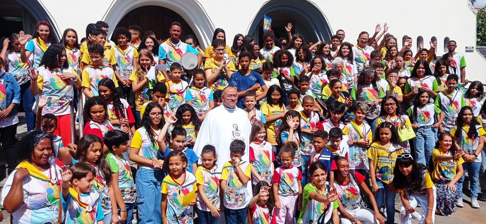
[[[393,169],[397,155],[402,153],[404,151],[401,146],[390,145],[390,147],[385,148],[379,142],[373,142],[365,155],[373,160],[374,167],[370,167],[370,169],[375,169],[377,180],[388,184],[393,180]]]

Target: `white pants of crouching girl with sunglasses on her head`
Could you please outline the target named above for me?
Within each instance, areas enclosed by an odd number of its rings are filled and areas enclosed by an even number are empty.
[[[429,212],[432,212],[432,223],[435,221],[435,205],[437,204],[437,198],[435,194],[434,188],[434,203],[429,205],[427,194],[425,195],[416,195],[416,194],[409,194],[408,200],[410,201],[410,206],[413,208],[417,208],[418,203],[420,203],[420,207],[422,207],[422,221],[419,224],[423,224],[425,217]],[[433,210],[428,209],[427,207],[432,208]],[[400,223],[401,224],[412,224],[412,215],[407,212],[403,204],[400,208]]]

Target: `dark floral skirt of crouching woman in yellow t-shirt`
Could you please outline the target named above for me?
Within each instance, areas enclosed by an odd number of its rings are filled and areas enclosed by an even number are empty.
[[[457,210],[455,203],[459,197],[459,191],[457,190],[457,183],[454,184],[456,190],[447,189],[447,184],[451,181],[448,180],[433,180],[435,187],[437,188],[437,210],[443,216],[450,216],[452,212]]]

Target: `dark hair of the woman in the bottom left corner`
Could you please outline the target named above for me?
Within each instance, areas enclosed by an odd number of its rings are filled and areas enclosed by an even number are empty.
[[[17,158],[22,160],[30,160],[32,154],[34,153],[34,148],[39,144],[39,142],[47,138],[51,141],[51,149],[54,158],[57,156],[55,155],[54,144],[52,144],[52,137],[49,136],[46,132],[43,131],[31,131],[27,133],[26,136],[20,138],[17,142]]]

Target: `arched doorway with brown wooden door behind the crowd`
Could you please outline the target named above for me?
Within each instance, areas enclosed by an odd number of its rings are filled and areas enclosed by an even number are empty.
[[[195,0],[117,0],[104,19],[110,26],[139,25],[143,31],[151,30],[157,39],[169,37],[170,24],[181,23],[182,38],[196,36],[201,48],[210,45],[214,26],[201,5]],[[114,28],[110,28],[110,34]]]

